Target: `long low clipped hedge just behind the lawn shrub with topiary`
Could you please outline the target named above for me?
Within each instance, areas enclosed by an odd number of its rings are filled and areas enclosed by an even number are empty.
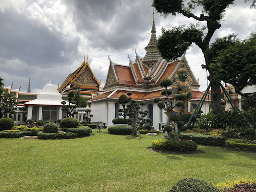
[[[174,138],[175,132],[170,132],[171,138]],[[193,136],[193,141],[197,144],[207,144],[214,146],[225,145],[226,137],[215,135],[203,135],[196,133],[181,133],[180,139],[190,140],[190,136]]]

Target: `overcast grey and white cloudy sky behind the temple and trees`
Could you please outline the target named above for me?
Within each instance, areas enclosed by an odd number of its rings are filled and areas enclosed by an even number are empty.
[[[246,38],[256,32],[256,10],[251,1],[235,0],[212,38],[238,34]],[[200,12],[196,12],[199,16]],[[101,85],[109,59],[128,65],[135,52],[144,57],[151,36],[151,0],[0,0],[0,77],[5,86],[26,92],[31,73],[31,90],[38,93],[51,81],[58,86],[70,70],[74,72],[84,55]],[[157,36],[162,27],[196,23],[182,15],[166,19],[155,13]],[[200,23],[199,23],[200,24]],[[205,23],[202,23],[205,24]],[[186,58],[201,84],[207,88],[204,57],[194,45]],[[86,59],[85,59],[86,60]]]

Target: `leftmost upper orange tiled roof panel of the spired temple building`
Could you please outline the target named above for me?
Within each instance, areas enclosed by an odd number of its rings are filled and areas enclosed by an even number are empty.
[[[114,69],[120,84],[136,84],[131,67],[114,65]]]

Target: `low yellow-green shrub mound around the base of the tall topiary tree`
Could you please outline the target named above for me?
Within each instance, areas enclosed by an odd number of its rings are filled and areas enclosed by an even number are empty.
[[[174,141],[168,139],[157,139],[152,142],[154,149],[164,149],[179,152],[194,152],[197,144],[194,141]]]

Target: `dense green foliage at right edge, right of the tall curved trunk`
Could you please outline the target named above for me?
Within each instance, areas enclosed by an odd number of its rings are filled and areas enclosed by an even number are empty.
[[[218,38],[211,44],[211,67],[217,81],[230,83],[242,96],[246,85],[256,84],[256,33],[239,40],[234,35]]]

